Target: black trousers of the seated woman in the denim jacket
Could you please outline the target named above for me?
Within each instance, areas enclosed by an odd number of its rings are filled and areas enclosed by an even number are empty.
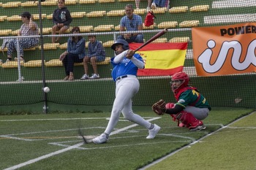
[[[79,59],[78,55],[67,54],[62,61],[65,68],[66,75],[69,76],[69,72],[73,72],[74,63],[81,63],[81,62],[83,62],[83,58]]]

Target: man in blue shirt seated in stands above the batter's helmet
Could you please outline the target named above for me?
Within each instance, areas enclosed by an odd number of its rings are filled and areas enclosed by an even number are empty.
[[[143,22],[139,15],[133,14],[133,7],[127,4],[124,8],[126,16],[121,18],[120,31],[140,31],[143,30]],[[125,39],[127,42],[143,43],[143,34],[123,34],[118,36],[118,39]]]

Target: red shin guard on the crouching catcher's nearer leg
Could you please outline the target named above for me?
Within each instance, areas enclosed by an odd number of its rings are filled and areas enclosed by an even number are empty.
[[[176,115],[176,119],[180,120],[181,123],[184,124],[187,128],[196,128],[198,125],[203,125],[201,120],[197,120],[192,113],[181,111],[179,114]]]

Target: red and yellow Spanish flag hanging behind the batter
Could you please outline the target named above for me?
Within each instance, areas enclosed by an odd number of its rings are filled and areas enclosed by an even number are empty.
[[[140,47],[141,43],[129,44],[131,50]],[[145,69],[138,70],[138,76],[167,76],[182,72],[187,42],[185,43],[151,43],[138,50],[145,61]]]

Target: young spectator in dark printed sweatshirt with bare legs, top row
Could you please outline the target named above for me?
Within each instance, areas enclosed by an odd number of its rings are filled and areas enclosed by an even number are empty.
[[[56,35],[56,31],[59,34],[64,34],[69,28],[69,24],[72,22],[72,18],[69,10],[65,7],[65,0],[58,0],[58,9],[53,12],[53,30],[52,34]],[[52,42],[59,42],[60,37],[53,36]]]

